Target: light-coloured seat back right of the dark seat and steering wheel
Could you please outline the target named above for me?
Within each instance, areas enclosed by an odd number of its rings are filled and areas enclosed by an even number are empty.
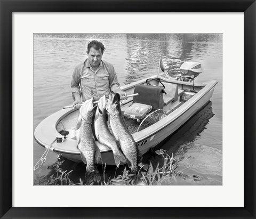
[[[167,106],[171,102],[175,102],[178,100],[178,97],[184,93],[183,90],[178,88],[177,84],[165,83],[165,92],[163,95],[164,98],[164,106]]]

